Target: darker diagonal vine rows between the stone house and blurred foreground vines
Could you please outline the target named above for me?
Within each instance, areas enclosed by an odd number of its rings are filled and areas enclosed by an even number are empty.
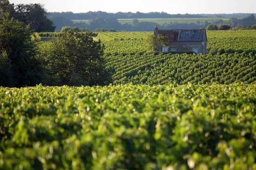
[[[256,59],[250,53],[211,54],[135,54],[108,56],[115,68],[113,84],[230,84],[256,81]]]

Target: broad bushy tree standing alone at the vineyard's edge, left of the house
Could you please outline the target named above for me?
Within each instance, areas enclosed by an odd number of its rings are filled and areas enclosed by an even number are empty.
[[[102,58],[101,42],[92,32],[64,32],[51,42],[41,58],[47,63],[47,85],[106,85],[111,75]]]

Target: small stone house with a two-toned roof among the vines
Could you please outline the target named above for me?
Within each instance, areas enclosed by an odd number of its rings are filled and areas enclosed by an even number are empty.
[[[169,46],[162,46],[162,52],[207,53],[207,36],[205,29],[160,30],[155,26],[154,36],[168,37]]]

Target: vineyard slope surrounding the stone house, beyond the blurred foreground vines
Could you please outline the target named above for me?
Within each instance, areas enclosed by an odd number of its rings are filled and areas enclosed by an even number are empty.
[[[150,32],[98,33],[105,58],[115,69],[113,84],[170,83],[231,84],[256,80],[256,30],[209,31],[208,51],[197,55],[155,53],[147,43]]]

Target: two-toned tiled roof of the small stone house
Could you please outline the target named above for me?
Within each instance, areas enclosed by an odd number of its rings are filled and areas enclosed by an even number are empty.
[[[203,41],[205,30],[158,30],[158,33],[174,41]]]

